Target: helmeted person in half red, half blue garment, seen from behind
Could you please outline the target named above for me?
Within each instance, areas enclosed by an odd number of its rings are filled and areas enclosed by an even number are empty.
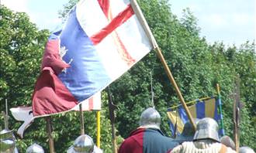
[[[160,130],[161,116],[153,107],[140,115],[140,126],[119,147],[119,153],[167,152],[178,145]]]

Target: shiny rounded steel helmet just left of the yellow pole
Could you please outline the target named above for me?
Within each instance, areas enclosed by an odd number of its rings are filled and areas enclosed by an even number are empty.
[[[94,148],[93,140],[87,134],[82,134],[75,139],[71,152],[74,153],[92,153]]]

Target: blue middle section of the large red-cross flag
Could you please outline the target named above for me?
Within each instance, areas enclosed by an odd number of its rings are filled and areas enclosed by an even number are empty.
[[[78,23],[75,8],[62,29],[61,47],[67,49],[63,59],[71,67],[58,77],[78,102],[88,99],[110,82],[95,46]]]

